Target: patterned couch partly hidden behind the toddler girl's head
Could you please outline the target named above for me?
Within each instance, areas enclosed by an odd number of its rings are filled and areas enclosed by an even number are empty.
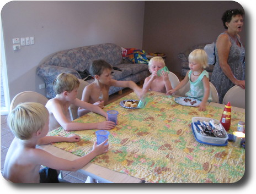
[[[206,46],[207,45],[207,46]],[[208,46],[211,46],[211,51],[209,51]],[[186,73],[189,70],[189,61],[188,57],[189,54],[194,51],[195,49],[205,49],[206,53],[208,54],[208,62],[209,66],[205,69],[209,73],[209,79],[211,79],[212,71],[214,70],[214,64],[215,64],[215,55],[214,55],[214,42],[213,43],[207,43],[207,44],[199,44],[195,45],[193,47],[190,47],[186,49],[184,52],[181,52],[178,54],[178,58],[182,61],[182,72],[180,73],[181,76],[185,76]]]

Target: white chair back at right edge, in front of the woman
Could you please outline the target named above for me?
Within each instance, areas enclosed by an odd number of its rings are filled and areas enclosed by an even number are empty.
[[[246,90],[240,86],[233,86],[227,91],[223,98],[223,104],[231,103],[231,106],[246,108]]]

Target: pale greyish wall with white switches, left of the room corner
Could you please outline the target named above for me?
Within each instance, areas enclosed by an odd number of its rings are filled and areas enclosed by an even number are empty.
[[[12,1],[1,12],[10,101],[19,92],[45,95],[36,67],[63,49],[116,43],[142,48],[143,1]],[[35,37],[13,51],[12,38]]]

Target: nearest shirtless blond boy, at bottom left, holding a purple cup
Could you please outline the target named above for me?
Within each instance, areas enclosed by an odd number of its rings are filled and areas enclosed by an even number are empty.
[[[7,152],[3,176],[12,182],[39,183],[44,180],[39,175],[41,165],[52,170],[76,171],[89,163],[95,156],[108,151],[108,145],[104,145],[108,140],[100,145],[94,142],[91,152],[70,161],[36,148],[36,145],[60,141],[77,142],[80,139],[77,135],[46,136],[49,132],[49,112],[40,103],[19,104],[8,115],[8,125],[15,137]]]

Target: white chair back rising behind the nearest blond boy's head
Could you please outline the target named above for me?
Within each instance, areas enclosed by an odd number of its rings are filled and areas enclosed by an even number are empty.
[[[18,104],[23,102],[38,102],[45,106],[45,104],[48,102],[48,98],[37,92],[20,92],[18,95],[14,96],[12,102],[10,103],[10,111],[17,107]]]

